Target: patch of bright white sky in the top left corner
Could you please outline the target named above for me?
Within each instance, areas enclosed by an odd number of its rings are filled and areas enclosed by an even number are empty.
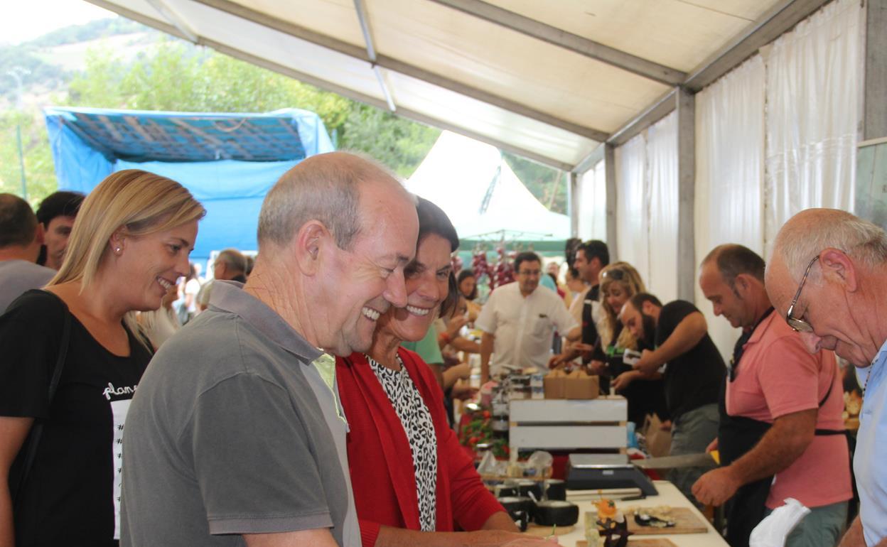
[[[84,0],[0,0],[0,43],[21,43],[56,28],[114,17]]]

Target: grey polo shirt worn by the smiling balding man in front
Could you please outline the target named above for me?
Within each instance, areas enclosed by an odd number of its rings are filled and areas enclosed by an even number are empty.
[[[243,545],[242,534],[328,527],[359,547],[334,362],[240,286],[217,282],[138,385],[121,543]]]

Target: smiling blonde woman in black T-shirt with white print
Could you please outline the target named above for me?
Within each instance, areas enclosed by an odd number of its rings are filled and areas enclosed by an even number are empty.
[[[118,543],[124,420],[151,358],[134,312],[188,273],[203,215],[168,178],[114,173],[56,277],[0,316],[0,544]]]

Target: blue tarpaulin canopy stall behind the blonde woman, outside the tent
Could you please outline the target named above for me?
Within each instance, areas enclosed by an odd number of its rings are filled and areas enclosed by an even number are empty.
[[[59,190],[89,193],[122,169],[183,184],[207,208],[192,260],[255,250],[265,193],[289,168],[333,143],[316,113],[174,113],[45,108]]]

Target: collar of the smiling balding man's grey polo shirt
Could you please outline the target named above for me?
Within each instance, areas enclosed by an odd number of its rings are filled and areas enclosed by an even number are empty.
[[[263,301],[243,291],[243,284],[237,281],[213,281],[209,295],[209,306],[227,311],[243,319],[271,339],[275,344],[300,357],[303,363],[311,363],[324,353],[311,346],[308,340],[295,332],[283,317],[269,308]]]

